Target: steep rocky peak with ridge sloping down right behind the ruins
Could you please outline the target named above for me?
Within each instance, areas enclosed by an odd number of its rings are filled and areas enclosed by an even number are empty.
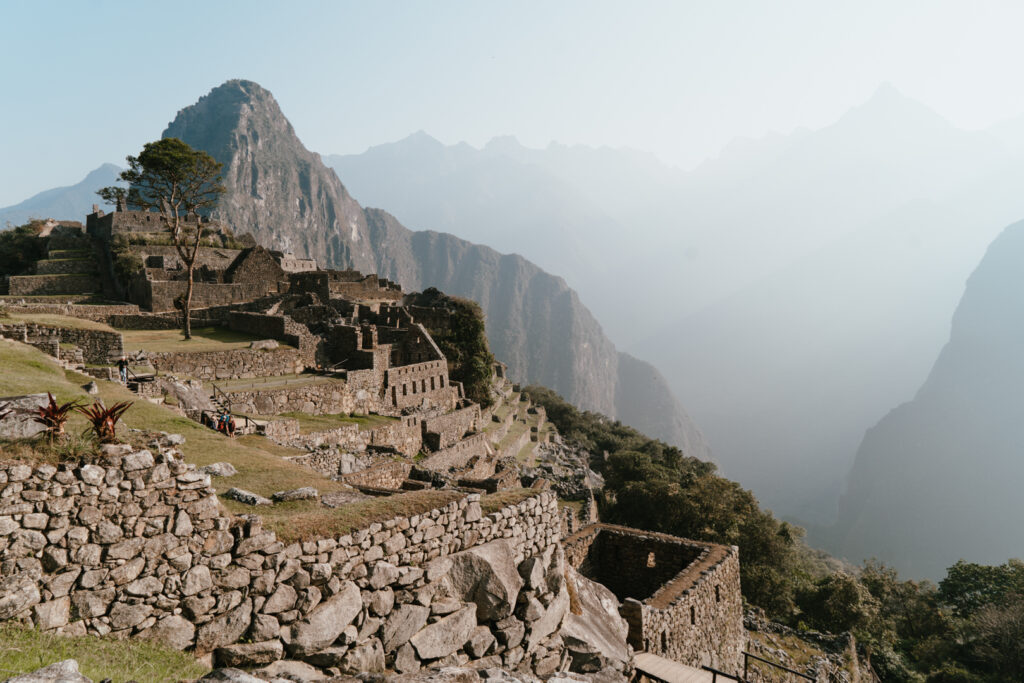
[[[643,421],[652,436],[707,457],[674,398],[638,412],[644,378],[650,395],[667,392],[656,370],[623,361],[600,325],[565,282],[524,258],[454,236],[413,231],[393,216],[364,210],[337,175],[306,150],[273,96],[249,81],[229,81],[178,113],[164,131],[224,164],[227,193],[218,217],[273,248],[332,267],[354,267],[401,283],[437,287],[480,303],[495,354],[516,379],[549,386],[573,403]],[[640,373],[636,374],[637,369]],[[623,374],[629,390],[621,390]],[[660,388],[659,388],[660,387]],[[671,398],[671,394],[669,394]],[[637,426],[641,426],[637,424]]]

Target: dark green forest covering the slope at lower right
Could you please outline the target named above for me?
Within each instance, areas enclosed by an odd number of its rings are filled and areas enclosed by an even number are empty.
[[[581,412],[544,387],[524,389],[605,477],[605,521],[740,548],[743,598],[800,630],[850,632],[885,681],[1021,680],[1024,562],[959,561],[938,586],[903,581],[877,561],[833,570],[802,542],[803,529],[761,510],[712,463]]]

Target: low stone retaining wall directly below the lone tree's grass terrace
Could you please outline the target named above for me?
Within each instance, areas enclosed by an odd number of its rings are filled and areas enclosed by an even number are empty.
[[[145,356],[153,364],[153,367],[161,373],[185,375],[201,380],[276,377],[301,373],[305,370],[299,351],[294,348],[163,351],[146,352]]]

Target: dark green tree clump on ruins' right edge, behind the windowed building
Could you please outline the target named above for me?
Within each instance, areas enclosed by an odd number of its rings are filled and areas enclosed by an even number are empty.
[[[490,395],[495,356],[487,344],[480,304],[447,296],[433,287],[418,295],[415,303],[449,311],[447,328],[431,329],[430,336],[447,359],[452,381],[462,382],[467,398],[489,408],[495,402]]]

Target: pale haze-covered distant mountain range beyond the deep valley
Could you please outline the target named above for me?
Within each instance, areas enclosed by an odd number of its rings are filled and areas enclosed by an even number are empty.
[[[565,245],[521,253],[658,368],[724,473],[821,523],[864,429],[920,386],[964,281],[1024,215],[1024,154],[1002,141],[1024,126],[1002,128],[959,130],[884,85],[828,126],[738,139],[691,171],[422,132],[326,160],[409,224],[489,239],[489,215],[508,240]]]

